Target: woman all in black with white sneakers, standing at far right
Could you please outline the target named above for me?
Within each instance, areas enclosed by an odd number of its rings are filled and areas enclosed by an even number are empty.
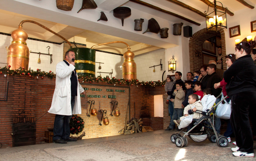
[[[231,150],[237,157],[254,157],[249,109],[256,105],[256,68],[250,55],[255,46],[255,41],[235,45],[237,60],[224,72],[227,95],[231,98],[230,124],[237,144]]]

